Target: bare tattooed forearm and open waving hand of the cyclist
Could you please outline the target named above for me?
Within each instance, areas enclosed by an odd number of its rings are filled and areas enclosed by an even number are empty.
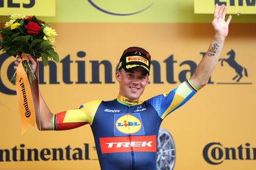
[[[212,75],[213,69],[220,58],[226,36],[228,36],[228,25],[231,21],[231,15],[229,15],[228,19],[225,21],[226,10],[225,5],[222,5],[220,10],[218,10],[218,4],[215,5],[214,18],[212,21],[215,36],[210,44],[209,50],[205,53],[204,58],[202,58],[190,79],[191,83],[198,89],[204,87],[210,79],[210,75]]]

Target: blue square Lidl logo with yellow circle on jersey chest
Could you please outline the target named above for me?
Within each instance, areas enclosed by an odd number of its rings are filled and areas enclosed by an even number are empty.
[[[145,134],[141,121],[141,115],[136,114],[115,114],[114,115],[115,136],[124,136],[126,134],[141,135]]]

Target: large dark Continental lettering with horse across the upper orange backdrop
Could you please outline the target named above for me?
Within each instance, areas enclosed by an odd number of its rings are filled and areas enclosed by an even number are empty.
[[[215,80],[210,78],[209,84],[217,84],[217,85],[252,85],[250,81],[250,70],[247,69],[247,66],[243,63],[239,63],[237,58],[241,58],[241,56],[236,56],[236,51],[231,49],[225,52],[226,55],[223,58],[220,58],[218,65],[221,66],[223,71],[231,70],[231,74],[229,79],[227,80]],[[77,57],[84,58],[86,52],[80,51],[77,52]],[[205,52],[199,52],[198,56],[202,57],[205,55]],[[7,77],[1,76],[0,77],[0,92],[6,95],[15,95],[15,90],[12,90],[10,79],[14,74],[15,70],[13,69],[14,63],[8,63],[7,69],[1,69],[2,65],[6,64],[6,61],[10,59],[11,56],[6,55],[6,53],[2,53],[0,55],[0,71],[4,72]],[[56,84],[114,84],[114,72],[115,72],[115,63],[111,62],[110,60],[89,60],[90,65],[86,65],[85,60],[71,60],[70,55],[65,56],[62,60],[60,60],[59,64],[56,64],[54,61],[49,61],[49,79],[46,80],[45,76],[45,69],[46,67],[43,66],[43,62],[39,61],[39,84],[43,85],[56,85]],[[176,63],[180,63],[181,66],[187,66],[189,69],[181,70],[180,72],[175,72],[175,69],[179,66]],[[162,83],[169,83],[169,84],[177,84],[186,81],[188,79],[188,74],[193,74],[197,63],[196,61],[192,60],[176,60],[173,54],[170,54],[163,63],[160,61],[152,60],[151,64],[154,69],[151,71],[151,77],[153,84],[162,84]],[[71,70],[70,67],[76,66],[78,69]],[[86,67],[91,70],[91,79],[86,79]],[[104,66],[104,70],[100,69],[101,66]],[[65,69],[64,69],[65,68]],[[163,78],[161,76],[161,69],[165,68],[166,77]],[[63,73],[61,75],[57,75],[57,72],[61,70]],[[76,79],[70,79],[70,75],[76,74]],[[175,75],[178,74],[178,75]],[[104,75],[105,81],[102,81],[100,75]],[[175,76],[178,76],[178,81],[175,79]],[[8,80],[8,83],[4,80]],[[164,80],[165,79],[165,80]],[[138,101],[132,101],[129,99],[123,99],[123,102],[131,102],[131,104],[138,104]]]

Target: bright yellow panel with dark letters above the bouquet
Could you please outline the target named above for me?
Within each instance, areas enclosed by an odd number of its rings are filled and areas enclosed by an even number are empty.
[[[55,0],[1,0],[0,15],[55,16]]]

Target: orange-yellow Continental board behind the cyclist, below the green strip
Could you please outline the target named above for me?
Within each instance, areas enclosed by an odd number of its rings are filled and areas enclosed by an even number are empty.
[[[168,93],[191,77],[214,36],[210,23],[51,26],[59,35],[60,63],[44,67],[39,61],[39,88],[53,113],[117,98],[115,70],[130,46],[144,47],[152,56],[150,83],[141,100]],[[163,121],[170,134],[159,140],[169,146],[172,136],[173,152],[165,156],[174,160],[174,169],[256,168],[255,30],[255,23],[232,23],[208,85]],[[17,96],[9,81],[13,61],[0,54],[0,169],[100,169],[89,125],[69,131],[28,128],[21,136]]]

